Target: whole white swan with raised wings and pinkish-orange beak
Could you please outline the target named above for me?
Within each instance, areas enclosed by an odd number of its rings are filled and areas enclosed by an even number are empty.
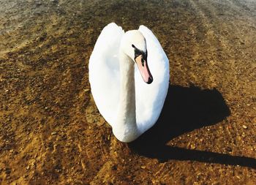
[[[156,123],[169,78],[168,58],[146,26],[125,33],[116,23],[105,26],[89,59],[89,82],[118,140],[129,143]]]

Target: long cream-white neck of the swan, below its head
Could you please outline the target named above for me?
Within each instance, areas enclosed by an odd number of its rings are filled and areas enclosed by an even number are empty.
[[[135,140],[140,134],[136,124],[135,62],[124,52],[119,52],[120,99],[118,116],[113,133],[122,142]]]

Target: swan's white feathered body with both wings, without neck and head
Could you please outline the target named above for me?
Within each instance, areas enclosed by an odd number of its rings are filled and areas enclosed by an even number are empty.
[[[146,84],[135,65],[136,121],[140,133],[152,127],[159,118],[169,86],[169,61],[157,38],[146,28],[139,31],[146,39],[148,67],[153,83]],[[118,110],[120,73],[118,51],[124,31],[115,23],[102,30],[89,61],[91,93],[106,121],[115,127]]]

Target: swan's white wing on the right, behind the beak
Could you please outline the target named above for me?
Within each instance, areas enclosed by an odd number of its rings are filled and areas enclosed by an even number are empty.
[[[140,132],[144,132],[159,118],[167,95],[170,73],[169,60],[157,37],[146,26],[140,26],[139,31],[146,38],[148,67],[154,79],[150,85],[144,83],[140,72],[135,69],[136,118]]]

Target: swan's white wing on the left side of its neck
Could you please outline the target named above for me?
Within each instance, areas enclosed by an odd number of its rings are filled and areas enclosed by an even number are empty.
[[[102,116],[109,124],[118,105],[118,51],[124,30],[116,23],[102,29],[89,59],[91,93]]]

